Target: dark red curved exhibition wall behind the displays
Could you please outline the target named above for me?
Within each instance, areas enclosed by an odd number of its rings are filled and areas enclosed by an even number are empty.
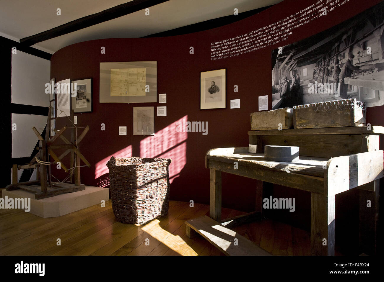
[[[316,20],[295,29],[284,44],[326,30],[379,2],[351,0],[343,7],[339,7],[337,12],[329,13],[324,20]],[[185,165],[171,184],[170,198],[208,203],[209,170],[205,168],[205,153],[211,148],[248,146],[250,113],[258,110],[258,96],[270,97],[271,50],[282,44],[211,61],[210,43],[268,25],[308,7],[311,3],[316,1],[286,0],[245,20],[212,30],[165,38],[86,41],[67,46],[53,54],[51,77],[56,78],[56,81],[67,78],[93,78],[93,112],[77,114],[78,126],[90,127],[80,148],[92,166],[81,168],[82,183],[94,186],[103,183],[107,175],[95,179],[96,163],[129,145],[132,148],[132,155],[140,156],[141,142],[146,138],[154,138],[132,135],[132,107],[155,106],[156,111],[156,106],[167,106],[166,117],[155,117],[156,134],[185,115],[188,115],[190,121],[208,121],[209,124],[208,135],[199,132],[187,134],[187,139],[183,142],[184,147],[178,152],[179,155],[183,155],[180,158],[184,158]],[[101,54],[101,46],[105,47],[105,54]],[[190,46],[194,47],[194,54],[189,53]],[[167,93],[167,103],[100,104],[99,63],[114,61],[157,61],[157,92]],[[227,69],[227,108],[200,110],[200,72],[223,68]],[[238,92],[233,92],[234,85],[238,86]],[[240,109],[230,109],[231,99],[240,99]],[[372,125],[384,125],[383,110],[383,106],[368,108],[367,122]],[[57,127],[66,123],[64,119],[59,119]],[[100,130],[102,123],[106,125],[105,131]],[[118,135],[118,126],[127,126],[126,136]],[[173,161],[171,166],[178,165],[179,158],[174,158]],[[243,211],[253,210],[255,180],[223,173],[222,183],[223,206]],[[297,213],[294,216],[288,213],[290,220],[308,228],[309,193],[285,187],[275,187],[273,190],[276,195],[296,197],[296,206],[298,203],[300,206],[296,208]]]

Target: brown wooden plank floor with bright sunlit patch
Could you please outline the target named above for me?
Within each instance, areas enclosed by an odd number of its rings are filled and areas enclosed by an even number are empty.
[[[239,214],[222,210],[223,218]],[[0,255],[223,255],[204,238],[185,235],[185,221],[203,215],[209,215],[209,205],[192,208],[180,201],[170,201],[167,216],[141,226],[116,221],[111,200],[105,208],[95,205],[58,218],[0,209]],[[284,223],[263,219],[233,230],[273,255],[310,255],[310,234]]]

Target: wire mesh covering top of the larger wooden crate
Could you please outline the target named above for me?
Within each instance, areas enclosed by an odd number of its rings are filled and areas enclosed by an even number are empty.
[[[356,101],[356,98],[299,105],[299,106],[294,106],[293,109],[298,110],[302,108],[313,108],[315,112],[320,112],[320,111],[338,110],[338,109],[352,110],[352,109],[355,109],[356,107],[362,110],[366,110],[365,102]]]

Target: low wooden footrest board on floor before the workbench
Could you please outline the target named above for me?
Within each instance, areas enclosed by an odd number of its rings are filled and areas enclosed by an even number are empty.
[[[209,216],[185,221],[185,229],[189,238],[199,233],[227,256],[271,256],[269,252]]]

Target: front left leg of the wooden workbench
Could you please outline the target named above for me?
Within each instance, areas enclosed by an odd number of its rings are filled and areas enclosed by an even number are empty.
[[[221,172],[211,168],[209,181],[209,216],[221,222]]]

